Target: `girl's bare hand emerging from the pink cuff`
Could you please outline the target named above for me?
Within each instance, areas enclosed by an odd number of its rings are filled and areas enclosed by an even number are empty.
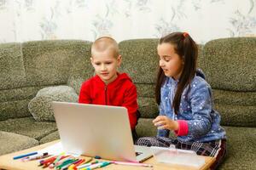
[[[158,129],[178,130],[179,128],[177,121],[173,121],[167,116],[157,116],[153,123]]]

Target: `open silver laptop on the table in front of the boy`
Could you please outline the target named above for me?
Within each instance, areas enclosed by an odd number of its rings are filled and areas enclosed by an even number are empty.
[[[55,101],[52,107],[67,153],[134,162],[152,156],[148,147],[133,144],[125,107]]]

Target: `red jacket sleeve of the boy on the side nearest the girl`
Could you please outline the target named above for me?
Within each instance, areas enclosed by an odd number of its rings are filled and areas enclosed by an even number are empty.
[[[137,125],[137,89],[134,84],[125,92],[125,99],[122,106],[128,110],[131,129],[134,130]]]

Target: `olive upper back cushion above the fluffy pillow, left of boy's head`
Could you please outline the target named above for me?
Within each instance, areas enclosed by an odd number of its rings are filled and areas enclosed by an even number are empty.
[[[26,86],[66,84],[74,59],[88,56],[88,42],[55,40],[23,42]]]

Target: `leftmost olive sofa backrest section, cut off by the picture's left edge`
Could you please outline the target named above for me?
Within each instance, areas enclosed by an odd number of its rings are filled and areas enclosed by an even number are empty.
[[[0,121],[10,117],[28,116],[27,95],[24,94],[26,71],[21,43],[0,44]]]

